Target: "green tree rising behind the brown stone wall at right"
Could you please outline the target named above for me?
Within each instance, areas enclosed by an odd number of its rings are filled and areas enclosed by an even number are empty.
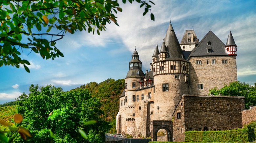
[[[226,96],[244,96],[245,97],[245,109],[249,109],[250,105],[256,105],[256,83],[254,86],[249,84],[237,82],[231,82],[229,85],[224,85],[223,88],[217,89],[214,87],[209,90],[213,95],[219,95],[222,93]]]

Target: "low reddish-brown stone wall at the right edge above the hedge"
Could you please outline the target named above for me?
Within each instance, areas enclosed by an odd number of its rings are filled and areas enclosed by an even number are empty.
[[[251,121],[256,121],[256,106],[242,111],[242,127],[249,124]]]

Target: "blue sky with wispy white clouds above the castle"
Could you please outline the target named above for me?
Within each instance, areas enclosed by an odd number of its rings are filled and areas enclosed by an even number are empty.
[[[170,20],[179,41],[186,28],[194,28],[199,41],[211,30],[226,44],[231,30],[237,45],[237,78],[250,85],[256,83],[255,0],[152,1],[155,21],[150,20],[150,12],[142,16],[144,8],[139,8],[139,3],[118,1],[123,9],[116,15],[119,26],[113,22],[106,25],[100,36],[87,31],[73,35],[67,32],[56,43],[64,57],[44,60],[25,50],[22,58],[31,63],[30,73],[22,66],[0,67],[0,104],[15,101],[23,92],[28,94],[31,84],[68,91],[90,82],[125,78],[135,46],[142,71],[150,70],[157,41],[160,47]]]

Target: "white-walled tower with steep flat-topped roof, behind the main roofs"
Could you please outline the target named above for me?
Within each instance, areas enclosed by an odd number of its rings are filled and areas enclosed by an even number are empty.
[[[186,29],[180,43],[181,49],[184,51],[192,51],[198,42],[199,40],[197,39],[194,29]]]

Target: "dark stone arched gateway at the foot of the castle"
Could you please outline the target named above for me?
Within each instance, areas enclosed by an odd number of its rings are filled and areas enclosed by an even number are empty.
[[[173,141],[173,125],[170,120],[152,120],[150,123],[151,141],[157,141],[157,132],[160,129],[167,131],[167,141]]]

